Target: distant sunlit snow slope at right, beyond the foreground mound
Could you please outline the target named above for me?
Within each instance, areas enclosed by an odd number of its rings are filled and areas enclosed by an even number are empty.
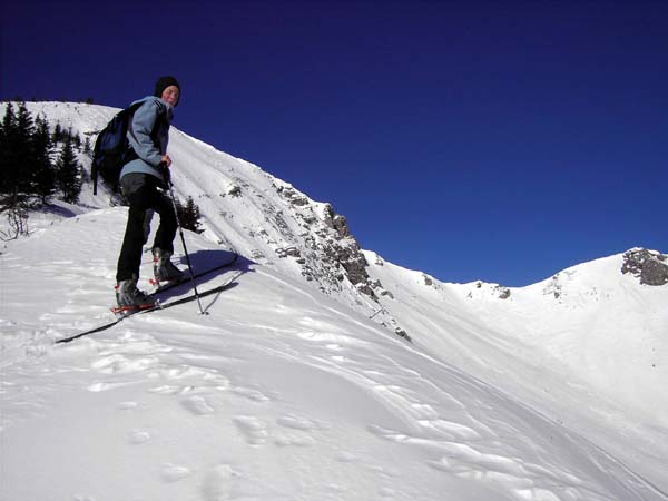
[[[622,275],[621,255],[507,289],[441,283],[366,254],[392,296],[381,303],[420,333],[418,346],[667,485],[668,287]]]

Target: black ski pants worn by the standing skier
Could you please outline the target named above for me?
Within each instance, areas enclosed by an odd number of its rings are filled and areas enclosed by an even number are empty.
[[[120,179],[120,188],[130,204],[130,209],[120,256],[118,256],[116,282],[130,279],[132,275],[139,278],[141,247],[146,239],[144,224],[150,209],[160,216],[153,248],[174,252],[174,237],[178,223],[171,200],[158,190],[159,183],[156,177],[140,173],[126,174]]]

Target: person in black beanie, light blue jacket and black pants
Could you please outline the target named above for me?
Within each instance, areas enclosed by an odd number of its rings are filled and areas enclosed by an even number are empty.
[[[161,191],[168,188],[167,169],[171,166],[171,158],[167,155],[167,143],[174,108],[179,98],[180,85],[176,78],[160,77],[154,95],[136,101],[141,105],[128,125],[130,147],[120,173],[120,189],[130,207],[116,272],[116,301],[120,312],[155,305],[153,296],[137,288],[141,248],[147,238],[145,226],[150,222],[151,212],[160,217],[153,243],[156,283],[159,285],[187,278],[186,273],[170,259],[178,222],[171,200]]]

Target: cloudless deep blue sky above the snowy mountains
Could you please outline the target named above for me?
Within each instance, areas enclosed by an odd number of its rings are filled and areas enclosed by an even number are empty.
[[[668,252],[668,1],[3,0],[0,98],[175,126],[446,282]],[[177,166],[175,166],[177,167]]]

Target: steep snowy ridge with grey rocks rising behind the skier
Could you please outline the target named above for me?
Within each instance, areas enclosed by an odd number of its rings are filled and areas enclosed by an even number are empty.
[[[68,102],[27,106],[33,115],[92,139],[118,111]],[[288,183],[176,127],[171,129],[170,155],[177,194],[191,196],[200,207],[205,236],[212,242],[232,246],[257,263],[298,273],[323,292],[347,289],[356,297],[358,289],[373,296],[358,245],[345,218],[330,204],[316,203]],[[89,161],[84,159],[84,166],[88,168]],[[82,199],[91,206],[100,203],[88,194]]]

